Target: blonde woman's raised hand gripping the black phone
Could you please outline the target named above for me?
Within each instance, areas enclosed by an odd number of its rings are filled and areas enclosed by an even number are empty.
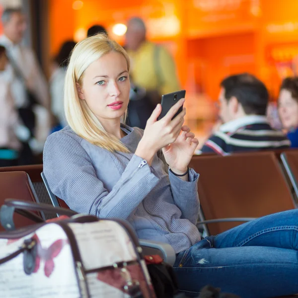
[[[172,118],[184,103],[184,98],[180,99],[167,114],[157,121],[161,113],[161,105],[158,104],[147,121],[144,135],[135,152],[136,155],[147,160],[149,165],[154,154],[161,148],[176,141],[184,123],[185,109],[182,110],[173,120]]]

